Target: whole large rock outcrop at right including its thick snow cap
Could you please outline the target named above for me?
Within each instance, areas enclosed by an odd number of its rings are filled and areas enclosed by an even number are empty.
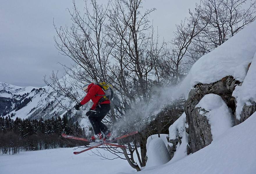
[[[187,98],[185,112],[189,125],[188,153],[189,150],[194,153],[204,148],[215,139],[214,137],[232,127],[234,122],[239,124],[255,112],[255,29],[256,21],[218,48],[202,56],[181,83],[181,86],[186,88],[184,94]],[[199,101],[207,94],[218,95],[214,99],[216,103],[210,103],[214,106],[220,105],[218,109],[214,109],[215,111],[209,107],[199,110],[196,108]],[[207,101],[203,100],[201,106],[204,102]],[[229,118],[229,121],[226,120],[227,127],[216,123],[221,128],[212,128],[215,124],[210,123],[213,120],[207,118],[207,115],[214,113]]]

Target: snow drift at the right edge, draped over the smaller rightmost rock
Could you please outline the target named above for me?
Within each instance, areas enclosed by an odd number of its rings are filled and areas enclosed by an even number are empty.
[[[243,80],[242,86],[236,86],[232,96],[236,98],[237,108],[236,116],[237,119],[241,119],[241,112],[244,105],[251,105],[251,101],[256,102],[256,53],[254,55],[253,61],[247,72],[246,77]]]

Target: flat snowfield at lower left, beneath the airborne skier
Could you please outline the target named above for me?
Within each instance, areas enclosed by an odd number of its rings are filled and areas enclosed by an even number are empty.
[[[102,160],[92,153],[74,155],[74,148],[58,148],[21,152],[16,155],[0,155],[1,174],[72,174],[72,173],[118,173],[132,171],[122,159]],[[81,149],[80,149],[81,150]],[[106,153],[99,149],[100,153]],[[114,155],[107,153],[108,157]]]

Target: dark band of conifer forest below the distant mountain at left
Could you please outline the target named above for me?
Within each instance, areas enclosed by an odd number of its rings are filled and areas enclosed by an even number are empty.
[[[85,136],[85,130],[78,122],[68,119],[67,114],[61,118],[29,120],[0,116],[0,153],[16,154],[20,150],[43,150],[60,147],[85,145],[80,141],[67,141],[61,133]]]

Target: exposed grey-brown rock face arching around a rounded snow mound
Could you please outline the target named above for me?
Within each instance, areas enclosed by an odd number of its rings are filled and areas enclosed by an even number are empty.
[[[232,76],[227,76],[211,84],[198,83],[191,89],[185,104],[186,122],[189,125],[189,128],[186,129],[189,133],[188,154],[204,148],[212,141],[211,127],[208,120],[205,116],[200,114],[199,108],[195,108],[195,106],[206,94],[217,94],[221,96],[227,106],[234,112],[235,103],[232,92],[234,91],[235,85],[239,83],[240,82],[234,80]]]

